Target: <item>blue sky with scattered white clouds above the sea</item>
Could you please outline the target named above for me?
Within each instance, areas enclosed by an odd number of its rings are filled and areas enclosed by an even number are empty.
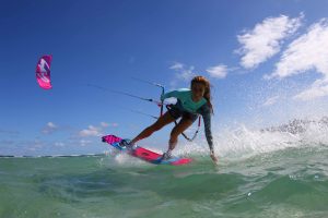
[[[325,116],[328,96],[325,0],[0,1],[0,155],[104,150],[99,135],[133,137],[156,116],[150,102],[95,84],[159,98],[139,77],[213,85],[213,131]],[[52,89],[35,80],[52,55]],[[166,144],[172,126],[143,143]]]

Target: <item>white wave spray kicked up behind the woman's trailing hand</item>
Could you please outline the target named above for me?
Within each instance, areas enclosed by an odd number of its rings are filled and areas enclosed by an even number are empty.
[[[213,132],[214,150],[219,157],[247,158],[290,147],[327,146],[328,119],[294,120],[288,124],[253,130],[245,124],[235,129]],[[177,155],[208,156],[204,135],[194,143],[184,143],[174,152]]]

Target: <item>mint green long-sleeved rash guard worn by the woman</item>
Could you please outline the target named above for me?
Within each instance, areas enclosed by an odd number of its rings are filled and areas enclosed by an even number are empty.
[[[161,96],[161,100],[166,98],[175,97],[177,102],[174,107],[177,107],[181,111],[201,114],[203,119],[204,133],[209,144],[210,149],[213,149],[213,137],[211,131],[211,108],[208,106],[208,101],[204,98],[195,102],[191,98],[191,90],[189,88],[180,88],[177,90],[172,90],[165,93]]]

